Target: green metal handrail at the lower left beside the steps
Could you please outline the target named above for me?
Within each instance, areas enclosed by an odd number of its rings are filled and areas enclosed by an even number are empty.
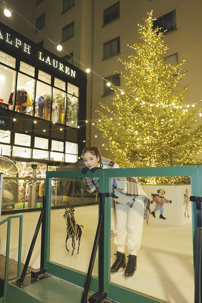
[[[20,218],[19,223],[19,241],[18,241],[18,263],[17,263],[17,278],[20,278],[21,272],[21,250],[22,250],[22,215],[10,216],[0,222],[0,226],[7,222],[7,240],[6,240],[6,261],[5,261],[5,273],[4,273],[4,287],[3,287],[3,303],[6,303],[7,297],[7,282],[8,282],[8,265],[9,265],[9,249],[10,249],[10,236],[11,236],[11,220],[14,218]]]

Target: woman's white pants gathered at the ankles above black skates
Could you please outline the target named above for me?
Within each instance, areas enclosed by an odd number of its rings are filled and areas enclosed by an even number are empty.
[[[124,253],[127,245],[130,254],[137,255],[142,240],[144,198],[137,197],[132,208],[127,204],[115,204],[115,209],[117,235],[114,244],[117,245],[117,251]]]

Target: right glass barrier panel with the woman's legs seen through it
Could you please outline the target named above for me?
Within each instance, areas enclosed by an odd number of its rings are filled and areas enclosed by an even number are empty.
[[[182,183],[189,181],[111,178],[111,283],[169,303],[194,302],[191,185]]]

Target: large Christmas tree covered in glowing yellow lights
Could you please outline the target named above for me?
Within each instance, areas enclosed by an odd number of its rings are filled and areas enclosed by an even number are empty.
[[[115,97],[101,106],[97,124],[108,139],[106,149],[120,167],[156,167],[201,163],[201,124],[195,124],[200,109],[186,105],[188,89],[179,81],[185,75],[185,60],[174,66],[166,61],[168,47],[150,12],[145,25],[139,25],[140,42],[129,45],[134,55],[119,59],[125,71],[123,87],[111,83]],[[201,113],[200,113],[201,116]],[[112,118],[112,119],[111,119]]]

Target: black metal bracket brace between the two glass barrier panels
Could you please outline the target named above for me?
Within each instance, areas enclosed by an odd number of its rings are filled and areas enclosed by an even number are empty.
[[[88,291],[90,287],[90,280],[92,277],[93,266],[95,262],[95,256],[99,244],[99,291],[90,296],[89,303],[99,303],[107,297],[107,293],[103,291],[103,281],[104,281],[104,198],[110,197],[111,193],[98,193],[99,200],[99,221],[98,227],[95,234],[95,240],[93,244],[93,250],[90,257],[90,264],[88,268],[88,273],[85,280],[85,286],[83,295],[81,298],[81,303],[86,303],[88,297]]]

